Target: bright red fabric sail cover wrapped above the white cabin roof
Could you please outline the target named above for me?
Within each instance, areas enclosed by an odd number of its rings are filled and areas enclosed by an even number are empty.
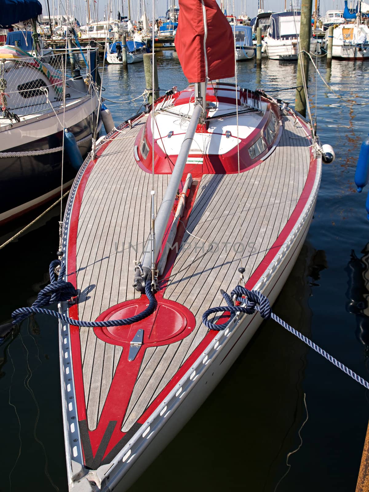
[[[179,0],[179,6],[174,43],[188,82],[205,82],[206,77],[210,80],[234,77],[233,31],[216,1]]]

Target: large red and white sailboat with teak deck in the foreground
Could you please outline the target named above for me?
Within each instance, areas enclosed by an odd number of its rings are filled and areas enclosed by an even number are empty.
[[[216,331],[203,313],[240,282],[273,303],[314,211],[319,143],[287,104],[218,81],[235,56],[215,0],[180,2],[176,43],[189,87],[107,135],[65,211],[79,296],[60,310],[103,325],[60,327],[70,491],[127,490],[184,426],[262,321]],[[108,326],[147,309],[151,285],[152,314]]]

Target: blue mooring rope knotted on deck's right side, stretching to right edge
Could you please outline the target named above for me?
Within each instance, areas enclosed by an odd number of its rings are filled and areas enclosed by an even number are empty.
[[[338,369],[341,369],[344,373],[352,377],[352,379],[355,379],[355,381],[365,386],[365,388],[369,389],[368,381],[358,376],[354,371],[344,366],[341,362],[339,362],[337,359],[332,357],[325,350],[323,350],[314,342],[312,342],[309,338],[305,337],[302,333],[292,328],[292,326],[290,326],[288,323],[286,323],[285,321],[280,319],[276,314],[274,314],[274,312],[272,312],[272,309],[270,307],[268,298],[265,297],[258,290],[248,290],[246,289],[246,287],[237,285],[237,287],[235,287],[232,290],[231,295],[227,294],[223,290],[221,290],[220,292],[225,302],[227,303],[227,306],[212,307],[208,309],[206,312],[204,312],[202,316],[202,322],[209,330],[217,330],[217,331],[224,330],[232,321],[232,319],[236,316],[237,312],[245,312],[247,314],[253,314],[255,310],[257,310],[260,312],[262,318],[264,319],[272,318],[274,321],[277,321],[277,323],[283,326],[283,328],[291,332],[297,338],[300,338],[300,340],[305,342],[310,348],[314,349],[315,352],[318,352],[318,354],[325,357],[329,362],[331,362],[336,367],[338,367]],[[232,298],[234,296],[236,296],[237,301],[239,301],[240,303],[246,306],[234,306],[232,303]],[[246,297],[242,297],[242,296],[246,296]],[[215,325],[214,323],[208,321],[208,317],[210,316],[210,314],[215,314],[216,312],[225,312],[225,311],[230,312],[229,320],[226,323],[223,323],[222,325]]]

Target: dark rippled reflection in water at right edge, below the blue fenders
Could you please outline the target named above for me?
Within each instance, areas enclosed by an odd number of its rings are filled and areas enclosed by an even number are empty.
[[[355,314],[358,340],[365,345],[365,355],[369,356],[369,243],[361,251],[359,258],[351,250],[350,261],[345,268],[348,274],[346,309]]]

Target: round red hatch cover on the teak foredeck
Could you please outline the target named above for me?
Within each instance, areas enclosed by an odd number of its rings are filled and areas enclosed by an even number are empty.
[[[143,344],[146,346],[166,345],[187,337],[196,326],[195,316],[182,304],[156,296],[157,307],[153,314],[132,325],[111,328],[94,328],[96,337],[114,345],[130,343],[137,330],[144,330]],[[125,301],[109,307],[96,321],[130,318],[142,312],[149,305],[146,296]]]

